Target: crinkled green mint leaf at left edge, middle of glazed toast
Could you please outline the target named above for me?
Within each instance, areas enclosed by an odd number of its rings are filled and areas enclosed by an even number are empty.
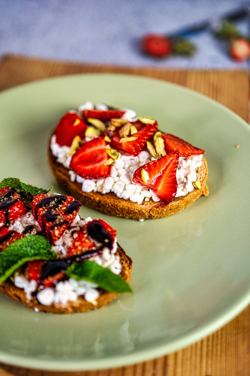
[[[0,253],[0,284],[27,261],[55,259],[49,244],[42,235],[29,235],[16,240]]]

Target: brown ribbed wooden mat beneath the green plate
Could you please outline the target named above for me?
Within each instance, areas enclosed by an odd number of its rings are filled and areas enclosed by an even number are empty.
[[[0,90],[47,77],[76,73],[126,73],[174,82],[222,103],[249,122],[248,72],[165,70],[74,64],[6,55],[0,64]],[[0,334],[1,338],[1,334]],[[43,372],[0,364],[0,376],[249,376],[250,306],[203,340],[151,361],[84,372]]]

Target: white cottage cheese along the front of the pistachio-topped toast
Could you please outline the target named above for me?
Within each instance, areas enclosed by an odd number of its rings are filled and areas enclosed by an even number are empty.
[[[69,168],[71,156],[69,147],[60,146],[55,141],[55,135],[51,138],[51,151],[57,158],[57,162],[64,167]],[[201,167],[203,155],[191,155],[189,157],[180,157],[176,171],[177,193],[175,197],[186,196],[192,192],[193,182],[196,181],[196,168]],[[140,166],[152,161],[154,158],[143,150],[137,156],[122,155],[119,153],[118,159],[115,159],[110,169],[110,175],[105,179],[84,179],[74,171],[69,170],[70,180],[81,183],[83,192],[114,192],[118,197],[124,200],[130,200],[141,204],[150,199],[155,202],[160,201],[156,194],[148,188],[132,182],[133,173]]]

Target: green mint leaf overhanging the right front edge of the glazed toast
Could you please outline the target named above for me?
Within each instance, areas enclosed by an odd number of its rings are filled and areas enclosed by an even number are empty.
[[[66,269],[66,274],[77,280],[84,279],[88,282],[93,282],[103,288],[103,290],[112,293],[132,293],[129,284],[122,277],[112,273],[108,268],[103,268],[94,261],[75,262]]]

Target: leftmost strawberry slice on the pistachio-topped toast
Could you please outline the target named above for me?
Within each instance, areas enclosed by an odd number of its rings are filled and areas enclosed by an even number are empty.
[[[56,142],[62,146],[70,146],[75,136],[84,138],[86,129],[86,124],[75,112],[67,112],[55,129]]]

